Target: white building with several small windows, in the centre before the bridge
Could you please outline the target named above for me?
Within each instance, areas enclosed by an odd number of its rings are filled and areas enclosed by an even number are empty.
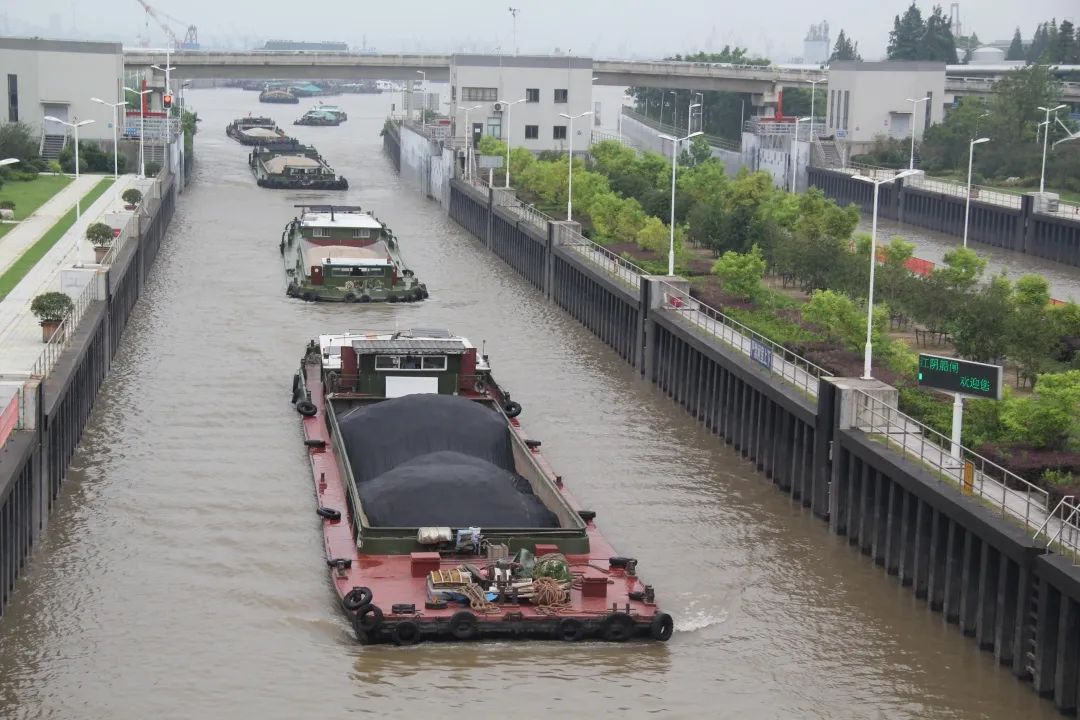
[[[513,147],[565,151],[570,122],[562,113],[593,110],[593,60],[567,55],[453,55],[450,104],[456,137],[507,139],[509,133]],[[465,128],[465,113],[459,108],[472,108],[471,127]],[[589,149],[593,123],[591,116],[573,122],[575,152]]]

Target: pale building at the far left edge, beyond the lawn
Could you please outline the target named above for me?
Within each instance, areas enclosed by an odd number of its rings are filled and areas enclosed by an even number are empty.
[[[122,96],[124,58],[120,43],[0,38],[0,123],[22,122],[36,132],[64,136],[67,127],[45,116],[71,122],[94,120],[79,128],[79,139],[112,141],[112,109],[90,98],[117,103]]]

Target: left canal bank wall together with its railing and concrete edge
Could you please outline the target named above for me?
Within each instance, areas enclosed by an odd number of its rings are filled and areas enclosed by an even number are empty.
[[[0,416],[0,614],[48,526],[179,191],[178,176],[166,168],[144,193],[136,213],[129,213],[122,222],[113,216],[103,218],[122,232],[105,264],[78,270],[82,285],[70,325],[41,344],[35,351],[40,355],[26,362],[25,370],[5,366],[0,376],[0,389],[11,398],[0,407],[4,410]],[[6,359],[16,354],[8,353]]]

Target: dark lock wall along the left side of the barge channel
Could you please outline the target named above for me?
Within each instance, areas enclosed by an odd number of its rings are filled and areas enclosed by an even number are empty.
[[[44,379],[31,379],[24,392],[35,402],[33,430],[15,431],[0,449],[0,614],[15,580],[49,522],[68,465],[90,419],[94,399],[143,294],[158,256],[179,191],[165,174],[160,202],[144,201],[148,214],[138,233],[120,249],[105,275],[105,298],[91,303],[69,345]]]

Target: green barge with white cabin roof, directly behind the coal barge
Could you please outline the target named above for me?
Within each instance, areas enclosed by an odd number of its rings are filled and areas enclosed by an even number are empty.
[[[428,297],[386,222],[359,206],[297,205],[282,231],[285,294],[319,302],[413,302]]]

